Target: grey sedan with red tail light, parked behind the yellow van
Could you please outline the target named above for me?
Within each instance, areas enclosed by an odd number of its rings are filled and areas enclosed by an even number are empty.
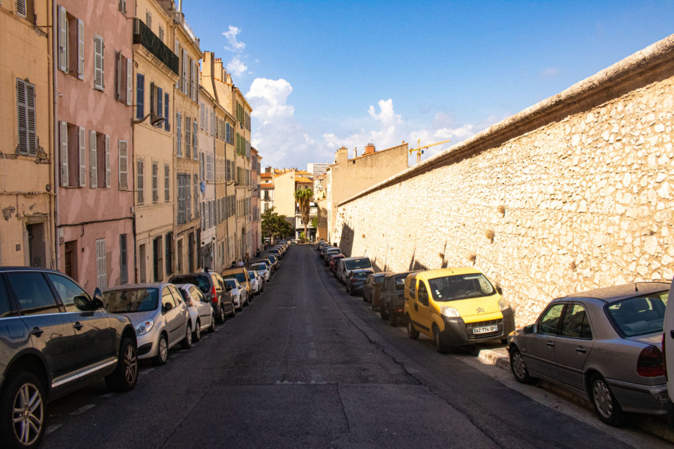
[[[611,426],[625,413],[667,413],[660,351],[670,283],[605,287],[556,298],[508,338],[510,366],[525,384],[545,378],[592,402]]]

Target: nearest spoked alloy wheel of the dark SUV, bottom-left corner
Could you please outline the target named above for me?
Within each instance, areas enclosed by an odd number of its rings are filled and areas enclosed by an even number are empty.
[[[0,394],[0,433],[8,446],[36,448],[47,427],[45,393],[40,380],[28,371],[6,377]]]

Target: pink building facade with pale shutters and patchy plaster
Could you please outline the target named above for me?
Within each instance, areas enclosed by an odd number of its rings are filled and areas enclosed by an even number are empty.
[[[87,292],[133,281],[135,2],[56,6],[58,270]]]

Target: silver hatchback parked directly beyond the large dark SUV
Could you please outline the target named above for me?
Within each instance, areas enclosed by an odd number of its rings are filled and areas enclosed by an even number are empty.
[[[168,350],[176,344],[192,346],[192,322],[187,305],[171,283],[130,284],[103,292],[105,309],[131,320],[138,339],[138,359],[151,358],[154,364],[168,360]]]

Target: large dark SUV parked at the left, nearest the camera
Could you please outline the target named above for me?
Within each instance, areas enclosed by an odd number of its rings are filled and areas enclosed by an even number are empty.
[[[102,308],[71,278],[54,270],[0,267],[0,441],[39,445],[45,403],[105,378],[113,391],[138,380],[129,318]]]

